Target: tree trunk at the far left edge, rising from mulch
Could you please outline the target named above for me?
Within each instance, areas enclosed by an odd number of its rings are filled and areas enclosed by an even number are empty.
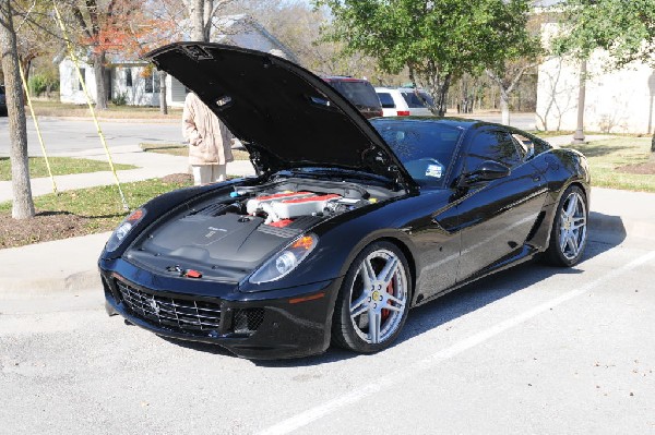
[[[12,13],[10,0],[0,0],[0,51],[9,116],[9,158],[13,193],[11,216],[14,219],[26,219],[33,217],[35,213],[29,184],[25,105],[19,72],[19,50],[16,48],[16,33],[13,27]]]

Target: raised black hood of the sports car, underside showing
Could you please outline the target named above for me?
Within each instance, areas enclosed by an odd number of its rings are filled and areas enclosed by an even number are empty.
[[[146,58],[193,90],[260,171],[332,167],[414,182],[373,126],[327,83],[276,56],[177,43]]]

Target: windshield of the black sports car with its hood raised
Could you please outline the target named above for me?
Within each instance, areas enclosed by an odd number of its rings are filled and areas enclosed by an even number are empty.
[[[418,120],[374,120],[371,123],[414,181],[425,188],[443,188],[461,129]]]

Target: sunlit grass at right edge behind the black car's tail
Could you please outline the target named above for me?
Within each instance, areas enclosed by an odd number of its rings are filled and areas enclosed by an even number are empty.
[[[655,192],[655,174],[626,173],[626,165],[647,162],[651,137],[616,137],[573,146],[588,159],[592,185],[629,191]]]

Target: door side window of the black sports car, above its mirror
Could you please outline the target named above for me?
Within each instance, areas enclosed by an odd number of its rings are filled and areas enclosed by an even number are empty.
[[[464,160],[464,170],[473,171],[485,160],[495,160],[510,168],[521,164],[521,157],[510,133],[487,130],[473,137]]]

